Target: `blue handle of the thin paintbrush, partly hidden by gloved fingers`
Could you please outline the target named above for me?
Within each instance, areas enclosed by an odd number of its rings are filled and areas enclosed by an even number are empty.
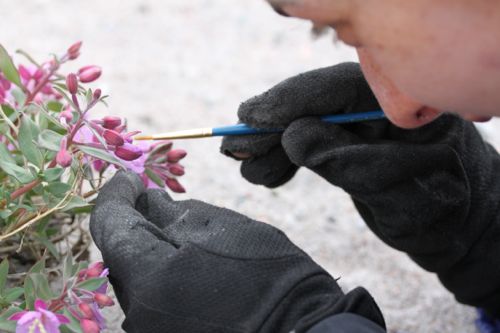
[[[343,113],[334,114],[330,116],[320,117],[321,120],[331,124],[345,124],[354,123],[359,121],[367,120],[378,120],[384,119],[384,112],[378,111],[368,111],[359,113]],[[257,129],[248,126],[247,124],[238,124],[232,126],[214,127],[212,128],[212,136],[228,136],[228,135],[249,135],[249,134],[262,134],[262,133],[280,133],[284,129]]]

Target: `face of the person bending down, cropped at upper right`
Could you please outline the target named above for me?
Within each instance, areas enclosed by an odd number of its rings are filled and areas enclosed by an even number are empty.
[[[268,0],[282,13],[331,26],[356,47],[389,119],[414,128],[443,111],[500,116],[500,2]]]

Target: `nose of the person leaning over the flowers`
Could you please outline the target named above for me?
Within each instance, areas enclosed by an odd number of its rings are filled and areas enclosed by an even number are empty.
[[[428,107],[401,92],[371,57],[358,49],[363,74],[387,118],[401,128],[416,128],[432,122],[441,111]]]

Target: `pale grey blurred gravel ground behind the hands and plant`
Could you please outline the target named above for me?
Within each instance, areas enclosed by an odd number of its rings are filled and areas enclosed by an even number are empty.
[[[299,72],[356,60],[309,25],[275,15],[263,1],[1,1],[0,42],[43,59],[84,41],[79,65],[104,68],[110,113],[145,132],[231,124],[239,103]],[[104,112],[104,111],[103,111]],[[499,122],[483,126],[500,143]],[[496,135],[496,137],[495,137]],[[349,290],[363,285],[390,332],[476,332],[474,310],[457,304],[436,277],[367,230],[348,196],[306,170],[267,190],[246,183],[218,153],[219,140],[181,141],[183,184],[193,197],[283,229]],[[300,201],[299,201],[300,199]],[[97,251],[94,254],[98,256]],[[110,332],[122,314],[110,313]]]

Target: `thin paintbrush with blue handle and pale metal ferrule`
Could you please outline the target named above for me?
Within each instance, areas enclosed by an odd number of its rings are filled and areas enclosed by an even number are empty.
[[[346,124],[368,120],[378,120],[385,118],[385,114],[378,111],[368,111],[359,113],[343,113],[320,117],[321,120],[331,124]],[[237,124],[222,127],[195,128],[183,131],[166,132],[153,135],[137,135],[134,140],[175,140],[175,139],[196,139],[213,136],[232,136],[250,134],[269,134],[283,132],[283,128],[258,129],[247,124]]]

